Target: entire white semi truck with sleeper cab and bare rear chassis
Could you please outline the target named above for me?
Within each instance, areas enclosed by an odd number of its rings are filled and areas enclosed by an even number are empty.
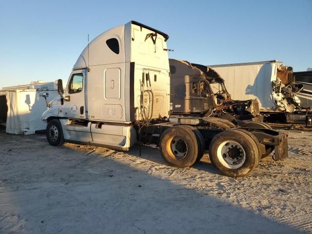
[[[137,141],[156,145],[164,160],[185,168],[209,150],[226,176],[246,176],[274,150],[288,156],[287,136],[252,122],[237,127],[226,119],[171,122],[169,36],[136,21],[112,28],[82,51],[60,105],[42,115],[51,145],[64,142],[128,150]]]

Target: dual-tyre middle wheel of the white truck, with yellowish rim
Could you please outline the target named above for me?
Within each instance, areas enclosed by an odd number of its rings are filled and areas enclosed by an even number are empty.
[[[178,168],[190,167],[198,156],[197,137],[190,128],[170,127],[161,135],[159,149],[169,165]]]

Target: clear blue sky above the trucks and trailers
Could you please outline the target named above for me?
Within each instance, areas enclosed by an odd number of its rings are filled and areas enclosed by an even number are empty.
[[[170,58],[312,67],[312,0],[0,0],[0,87],[67,81],[88,33],[130,20],[169,34]]]

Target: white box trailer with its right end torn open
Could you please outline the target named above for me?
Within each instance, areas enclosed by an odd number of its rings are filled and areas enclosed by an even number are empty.
[[[265,121],[305,120],[297,94],[303,85],[295,84],[292,67],[277,60],[208,65],[224,78],[234,99],[257,99]]]

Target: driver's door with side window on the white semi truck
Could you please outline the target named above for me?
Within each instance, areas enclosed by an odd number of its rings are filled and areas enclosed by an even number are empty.
[[[68,81],[64,107],[68,118],[86,118],[86,69],[73,71]]]

